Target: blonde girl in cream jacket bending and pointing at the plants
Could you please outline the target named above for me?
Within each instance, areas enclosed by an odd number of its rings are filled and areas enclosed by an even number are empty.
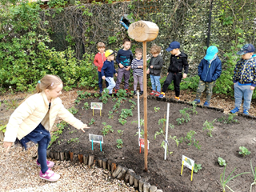
[[[3,146],[10,149],[10,146],[18,138],[18,142],[26,149],[29,142],[38,143],[37,165],[41,166],[39,177],[46,181],[55,182],[60,178],[59,174],[50,170],[54,162],[46,160],[46,149],[50,142],[50,130],[58,117],[70,123],[78,130],[88,129],[73,114],[62,105],[58,98],[62,94],[63,83],[55,75],[47,74],[36,87],[37,94],[26,98],[24,102],[11,114],[6,126],[6,134]]]

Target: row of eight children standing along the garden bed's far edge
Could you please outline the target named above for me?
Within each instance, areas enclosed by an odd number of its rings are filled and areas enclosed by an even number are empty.
[[[117,93],[124,77],[124,89],[128,92],[130,69],[133,70],[134,76],[134,94],[137,94],[137,86],[139,83],[140,92],[143,94],[143,59],[142,49],[135,49],[135,58],[130,50],[130,39],[123,39],[121,50],[118,50],[116,62],[118,63],[118,71],[114,70],[114,51],[105,50],[105,44],[98,42],[99,53],[96,54],[94,59],[95,66],[98,66],[98,85],[100,87],[100,93],[102,93],[102,79],[106,79],[106,87],[109,93],[115,87],[114,92]],[[162,86],[160,84],[160,74],[163,66],[163,59],[160,55],[161,47],[153,45],[150,48],[150,62],[146,74],[150,74],[150,81],[152,86],[152,92],[150,95],[154,95],[159,98],[165,98],[166,91],[171,82],[174,82],[174,92],[176,100],[180,100],[180,83],[182,78],[186,78],[189,70],[189,64],[187,61],[187,55],[180,51],[179,42],[171,42],[166,51],[170,52],[170,66],[166,74],[166,80]],[[234,114],[240,110],[242,98],[244,99],[243,113],[249,114],[250,101],[252,98],[254,87],[256,86],[256,55],[254,55],[255,48],[251,44],[242,46],[242,49],[238,51],[238,55],[242,55],[242,58],[238,61],[234,68],[234,98],[235,108],[230,111]],[[105,58],[106,57],[106,58]],[[105,61],[105,60],[106,61]],[[110,64],[111,62],[111,64]],[[183,73],[182,73],[183,72]],[[117,82],[114,82],[113,74],[117,78]],[[206,56],[202,58],[198,65],[198,76],[200,78],[198,82],[198,89],[194,102],[199,104],[202,92],[206,90],[206,102],[204,106],[210,106],[210,98],[213,93],[213,88],[216,80],[222,74],[222,62],[218,58],[218,48],[216,46],[209,46],[206,50]]]

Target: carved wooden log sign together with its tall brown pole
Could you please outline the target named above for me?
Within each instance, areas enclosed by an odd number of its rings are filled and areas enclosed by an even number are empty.
[[[146,42],[158,37],[159,28],[154,22],[138,21],[130,24],[128,34],[136,42],[143,42],[143,101],[144,101],[144,170],[147,171],[147,93],[146,93]]]

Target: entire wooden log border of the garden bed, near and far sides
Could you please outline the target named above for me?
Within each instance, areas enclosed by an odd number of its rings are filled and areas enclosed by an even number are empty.
[[[94,95],[92,94],[92,96]],[[128,94],[127,98],[134,98],[134,95]],[[161,102],[174,102],[192,106],[191,102],[177,101],[173,98],[157,98],[151,95],[149,95],[147,98]],[[217,107],[202,105],[197,105],[197,107],[209,110],[216,110],[222,113],[224,112],[224,109]],[[238,116],[241,116],[243,118],[256,119],[256,116],[246,115],[240,112],[238,112]],[[83,163],[84,165],[89,167],[98,166],[99,168],[102,168],[104,170],[109,170],[113,178],[117,178],[120,181],[124,180],[124,182],[129,183],[130,186],[134,186],[134,189],[138,190],[139,192],[162,192],[162,190],[158,189],[157,186],[151,186],[149,182],[146,182],[146,178],[142,178],[140,175],[135,174],[134,170],[130,170],[125,166],[118,165],[111,159],[96,157],[93,154],[74,154],[71,151],[55,151],[54,149],[46,150],[46,154],[47,158],[54,158],[55,160],[60,161],[66,160],[72,163]]]

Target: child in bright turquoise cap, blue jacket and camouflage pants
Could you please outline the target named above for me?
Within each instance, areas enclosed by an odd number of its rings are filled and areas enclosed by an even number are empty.
[[[222,74],[222,62],[218,58],[218,48],[209,46],[206,51],[206,56],[202,59],[198,66],[198,90],[194,102],[200,103],[202,92],[206,89],[206,102],[204,106],[210,106],[210,98],[213,94],[213,88],[217,78]]]

